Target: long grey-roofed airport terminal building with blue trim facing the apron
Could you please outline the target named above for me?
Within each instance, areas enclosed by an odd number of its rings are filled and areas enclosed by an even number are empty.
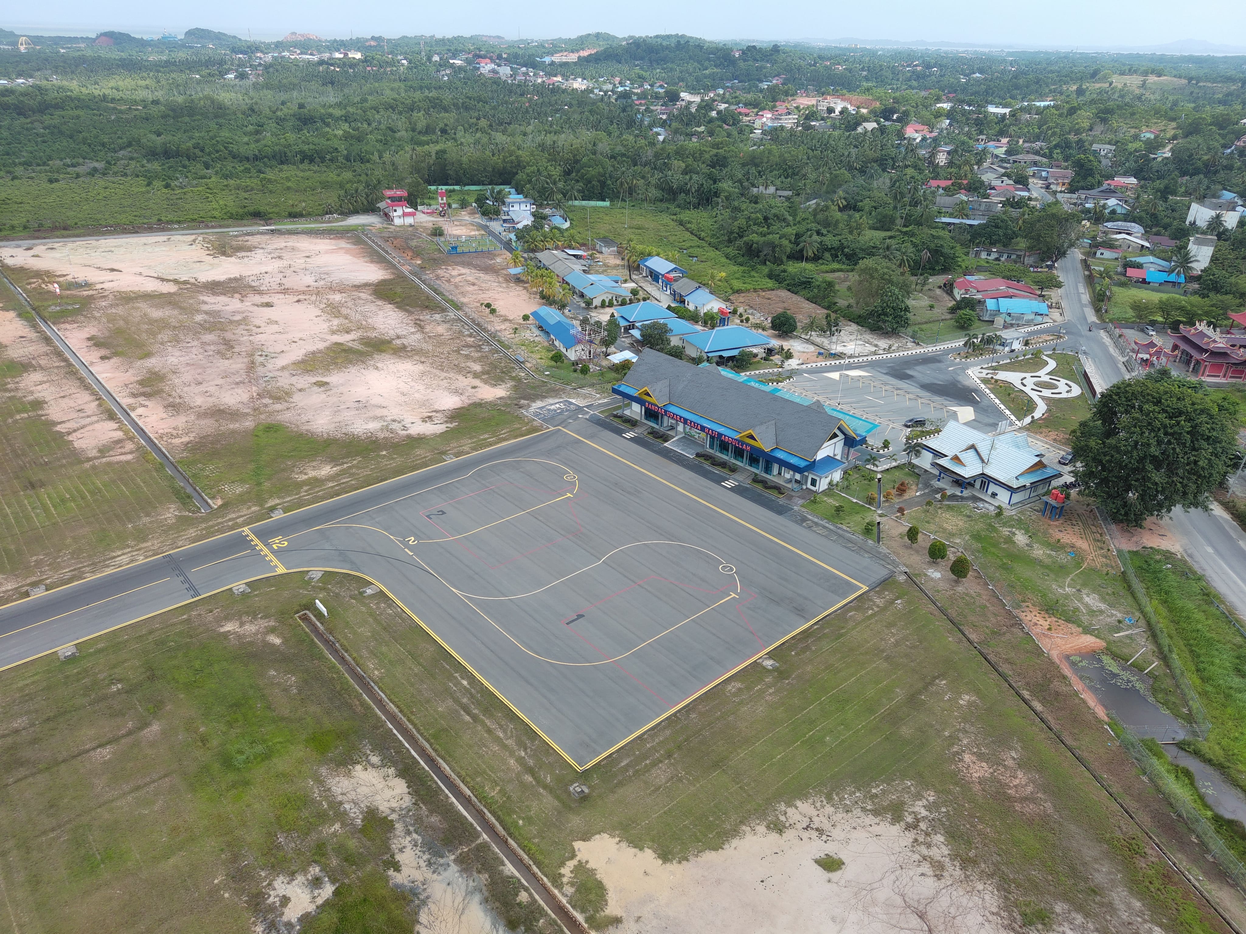
[[[716,366],[644,350],[612,390],[630,415],[792,487],[839,482],[851,448],[878,426]]]

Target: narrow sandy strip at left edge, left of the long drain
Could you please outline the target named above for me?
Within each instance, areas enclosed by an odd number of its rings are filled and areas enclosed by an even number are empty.
[[[22,372],[5,381],[19,399],[41,402],[39,415],[64,435],[88,461],[126,460],[140,453],[100,397],[42,331],[12,311],[0,310],[4,356],[21,364]]]

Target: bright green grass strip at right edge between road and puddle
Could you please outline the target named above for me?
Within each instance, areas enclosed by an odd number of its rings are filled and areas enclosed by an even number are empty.
[[[1130,560],[1212,722],[1205,742],[1187,741],[1191,752],[1246,790],[1246,692],[1241,674],[1246,670],[1246,636],[1216,608],[1206,583],[1180,557],[1145,549],[1130,552]]]

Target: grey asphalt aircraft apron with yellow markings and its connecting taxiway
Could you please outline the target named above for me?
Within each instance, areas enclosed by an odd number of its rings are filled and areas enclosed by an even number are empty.
[[[670,472],[591,421],[551,428],[0,608],[0,669],[259,578],[349,572],[584,770],[891,573]]]

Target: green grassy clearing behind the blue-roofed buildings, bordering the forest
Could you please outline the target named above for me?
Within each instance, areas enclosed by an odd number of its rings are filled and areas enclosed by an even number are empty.
[[[592,224],[589,224],[589,210]],[[688,270],[688,274],[719,298],[750,289],[775,289],[778,285],[761,273],[740,267],[708,243],[690,233],[673,218],[657,210],[632,205],[571,208],[569,220],[576,237],[611,237],[622,243],[634,243],[652,254],[660,254]],[[650,254],[650,255],[652,255]],[[695,260],[693,259],[695,257]],[[718,274],[725,275],[718,279]]]

